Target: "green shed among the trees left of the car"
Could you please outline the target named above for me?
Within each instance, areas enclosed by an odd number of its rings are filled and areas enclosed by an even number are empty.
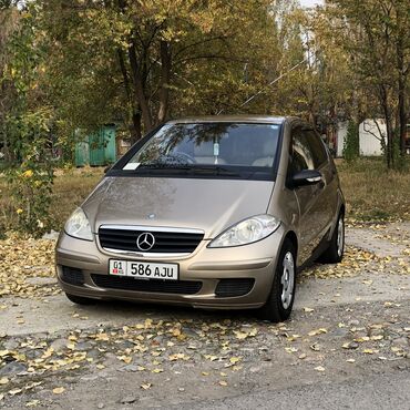
[[[104,166],[115,160],[115,125],[104,125],[75,144],[75,166]]]

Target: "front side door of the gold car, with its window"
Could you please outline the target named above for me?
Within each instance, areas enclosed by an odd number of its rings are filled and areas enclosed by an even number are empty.
[[[316,170],[315,153],[309,144],[306,127],[297,125],[291,131],[288,177],[304,170]],[[319,170],[320,171],[320,170]],[[319,245],[325,228],[325,183],[294,187],[299,206],[299,263],[308,259]]]

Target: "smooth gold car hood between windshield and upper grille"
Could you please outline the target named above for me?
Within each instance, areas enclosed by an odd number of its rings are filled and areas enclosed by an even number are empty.
[[[85,199],[91,227],[143,225],[196,228],[214,238],[268,207],[273,181],[105,177]]]

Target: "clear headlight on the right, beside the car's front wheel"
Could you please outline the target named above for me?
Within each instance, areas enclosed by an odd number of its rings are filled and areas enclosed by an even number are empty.
[[[280,225],[280,221],[270,215],[257,215],[242,221],[217,236],[208,247],[223,248],[252,244],[266,238]]]

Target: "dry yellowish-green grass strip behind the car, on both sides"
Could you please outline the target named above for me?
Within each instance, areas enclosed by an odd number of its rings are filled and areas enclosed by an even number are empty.
[[[349,221],[410,219],[410,172],[388,172],[381,158],[337,161]],[[103,168],[58,171],[51,199],[53,228],[60,229],[103,176]],[[16,223],[16,209],[0,176],[0,230]]]

